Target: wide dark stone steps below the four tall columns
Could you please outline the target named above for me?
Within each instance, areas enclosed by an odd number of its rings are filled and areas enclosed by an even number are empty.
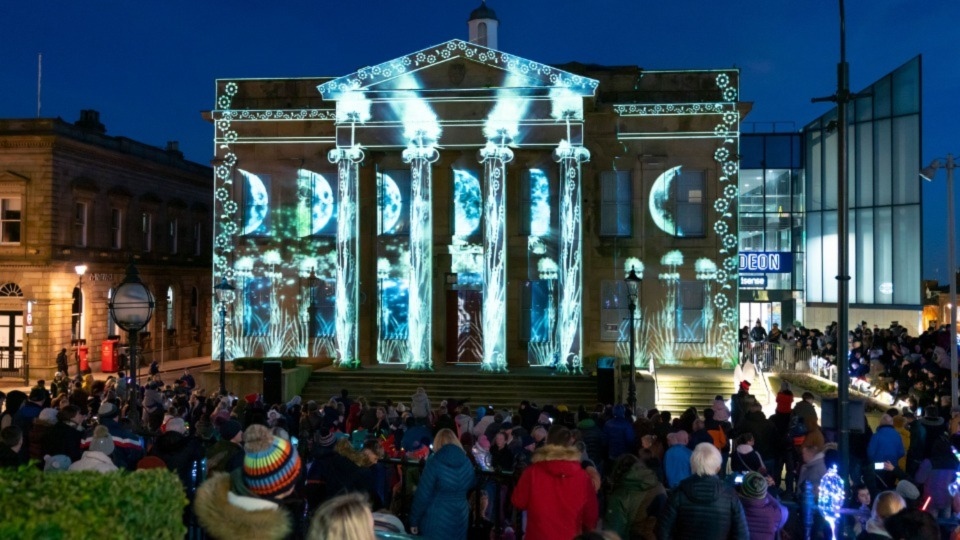
[[[544,368],[513,369],[509,373],[483,373],[476,366],[450,366],[436,371],[407,371],[372,367],[359,371],[324,368],[313,372],[301,392],[306,400],[326,402],[349,390],[352,397],[383,403],[410,405],[410,396],[422,386],[431,404],[441,400],[466,401],[472,407],[493,405],[497,410],[517,410],[521,399],[539,405],[564,404],[575,411],[580,405],[592,410],[597,402],[597,379],[589,375],[564,375]]]

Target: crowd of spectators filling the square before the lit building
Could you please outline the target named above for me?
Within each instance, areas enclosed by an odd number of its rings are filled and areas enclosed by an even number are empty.
[[[898,345],[887,349],[900,350],[904,334],[889,335]],[[861,339],[867,350],[878,343],[859,334],[851,347]],[[906,339],[917,362],[935,358],[930,336]],[[560,399],[493,410],[434,403],[423,388],[409,405],[347,390],[326,402],[264,403],[208,394],[187,372],[142,386],[123,373],[58,375],[2,397],[0,467],[165,467],[183,483],[184,519],[212,538],[802,536],[796,503],[837,462],[835,434],[809,392],[797,400],[783,382],[768,417],[750,386],[674,417]],[[918,535],[960,511],[960,409],[939,407],[943,387],[934,388],[887,411],[875,431],[850,435],[847,537],[937,538]]]

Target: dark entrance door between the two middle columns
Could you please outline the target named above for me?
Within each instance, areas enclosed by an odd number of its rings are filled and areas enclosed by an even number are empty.
[[[447,291],[448,364],[479,364],[483,361],[482,306],[483,291]]]

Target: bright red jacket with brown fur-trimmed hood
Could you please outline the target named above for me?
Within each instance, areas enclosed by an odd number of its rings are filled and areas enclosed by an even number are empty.
[[[527,511],[527,540],[569,540],[597,528],[597,492],[580,466],[580,451],[547,445],[533,454],[511,502]]]

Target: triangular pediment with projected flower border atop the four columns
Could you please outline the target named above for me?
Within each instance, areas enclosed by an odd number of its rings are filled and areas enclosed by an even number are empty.
[[[465,63],[469,62],[470,69]],[[479,64],[482,69],[475,69]],[[467,72],[469,71],[469,76]],[[324,99],[347,92],[389,93],[431,89],[548,91],[564,88],[592,96],[598,81],[495,49],[453,39],[406,56],[361,68],[317,89]]]

